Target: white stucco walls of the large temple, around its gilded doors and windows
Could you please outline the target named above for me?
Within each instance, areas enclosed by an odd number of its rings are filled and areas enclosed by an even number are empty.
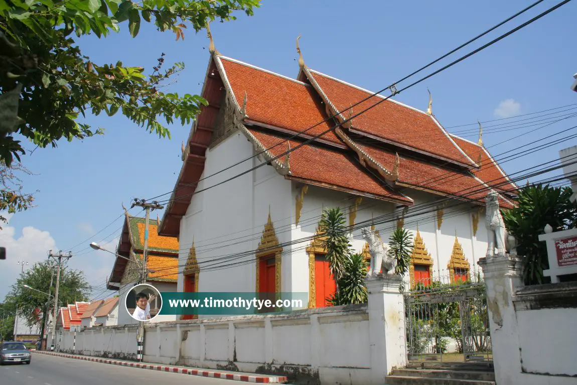
[[[212,149],[207,149],[204,173],[198,190],[214,186],[221,181],[238,175],[250,167],[260,164],[253,158],[218,175],[218,171],[249,158],[254,154],[252,144],[241,133],[235,133]],[[201,272],[198,290],[207,291],[249,291],[256,289],[256,264],[254,250],[258,247],[261,233],[267,223],[269,210],[276,236],[280,243],[292,242],[283,247],[281,291],[309,291],[309,263],[305,251],[310,244],[307,237],[316,232],[323,208],[340,207],[349,224],[350,207],[357,196],[339,190],[309,185],[304,196],[301,218],[295,226],[295,204],[302,184],[286,180],[272,166],[257,170],[228,181],[225,184],[195,194],[186,215],[180,223],[180,255],[177,290],[183,291],[182,270],[193,243]],[[443,197],[418,190],[402,189],[415,201],[409,215],[419,211],[419,207],[429,206]],[[454,204],[456,201],[449,201]],[[443,222],[437,228],[434,205],[418,216],[406,218],[404,227],[413,235],[419,233],[428,252],[433,258],[434,276],[441,276],[449,282],[447,265],[451,257],[455,235],[462,246],[464,256],[469,260],[471,270],[477,269],[477,261],[485,256],[487,233],[484,227],[484,211],[480,212],[477,233],[473,234],[472,214],[477,208],[463,203],[457,207],[444,209]],[[377,222],[383,215],[391,215],[400,210],[396,204],[362,197],[356,211],[355,224],[370,220]],[[387,242],[396,228],[396,219],[389,217],[386,223],[377,223],[383,241]],[[365,240],[360,229],[351,234],[351,244],[356,251],[362,251]],[[224,268],[226,267],[226,268]],[[408,281],[408,278],[407,278]],[[201,315],[201,317],[203,317]]]

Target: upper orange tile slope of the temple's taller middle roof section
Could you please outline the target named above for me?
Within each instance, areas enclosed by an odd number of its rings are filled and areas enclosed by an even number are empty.
[[[372,92],[364,91],[319,72],[309,69],[306,73],[312,77],[312,81],[316,81],[328,101],[338,111],[343,111],[372,95]],[[353,118],[353,128],[356,131],[405,148],[417,149],[429,155],[440,156],[467,166],[473,165],[473,162],[451,141],[445,130],[440,128],[430,115],[391,99],[383,102],[383,99],[382,96],[373,96],[353,107],[353,114],[355,114],[381,102]],[[348,114],[349,111],[344,112],[344,118],[348,118]]]

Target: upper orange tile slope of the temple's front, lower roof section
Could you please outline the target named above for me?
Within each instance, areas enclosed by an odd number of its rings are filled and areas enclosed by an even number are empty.
[[[320,103],[321,99],[310,85],[230,58],[219,57],[219,59],[241,108],[245,92],[247,94],[248,119],[293,132],[302,132],[327,117],[324,114],[324,106]],[[316,136],[330,128],[329,122],[324,122],[305,134]],[[332,131],[321,138],[342,144]],[[286,150],[286,144],[284,149]]]

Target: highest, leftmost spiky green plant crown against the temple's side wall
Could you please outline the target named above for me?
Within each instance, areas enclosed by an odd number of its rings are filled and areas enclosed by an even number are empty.
[[[327,208],[320,220],[320,231],[324,233],[322,245],[327,249],[329,269],[338,283],[351,256],[348,228],[339,207]]]

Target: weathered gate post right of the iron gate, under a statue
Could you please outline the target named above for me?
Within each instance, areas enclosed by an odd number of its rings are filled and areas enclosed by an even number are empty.
[[[481,258],[478,264],[485,276],[495,380],[499,385],[516,385],[519,383],[516,375],[522,371],[512,295],[523,286],[524,262],[517,256],[505,255]]]

